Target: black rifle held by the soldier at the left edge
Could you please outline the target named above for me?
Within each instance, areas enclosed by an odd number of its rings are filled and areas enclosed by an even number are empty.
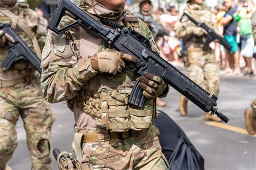
[[[0,30],[8,33],[15,42],[6,41],[9,45],[9,54],[6,59],[3,61],[2,66],[6,69],[9,69],[14,62],[25,60],[29,61],[33,67],[41,74],[41,60],[37,55],[26,45],[26,43],[18,36],[18,34],[12,30],[9,24],[0,23]]]

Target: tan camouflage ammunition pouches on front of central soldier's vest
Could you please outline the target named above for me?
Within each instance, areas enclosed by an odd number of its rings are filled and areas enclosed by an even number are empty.
[[[111,132],[127,132],[149,128],[154,118],[153,100],[146,100],[143,108],[133,108],[128,104],[130,93],[114,90],[112,93],[102,93],[102,115],[96,121],[97,125]]]

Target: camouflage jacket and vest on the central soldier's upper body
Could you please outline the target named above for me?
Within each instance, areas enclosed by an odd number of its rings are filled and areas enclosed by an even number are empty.
[[[82,5],[81,8],[96,16],[89,5]],[[95,9],[98,14],[107,17],[120,14],[97,2]],[[60,27],[70,22],[70,18],[63,18]],[[151,32],[131,12],[125,11],[119,16],[118,23],[149,38],[153,49],[157,51]],[[107,48],[110,47],[105,42],[81,26],[60,35],[49,32],[42,55],[41,86],[44,96],[51,103],[67,102],[75,114],[77,132],[85,127],[109,129],[113,132],[146,129],[155,116],[155,100],[146,100],[143,108],[135,108],[127,103],[139,75],[128,69],[114,76],[99,74],[87,60],[88,56]],[[126,63],[126,67],[132,65]]]

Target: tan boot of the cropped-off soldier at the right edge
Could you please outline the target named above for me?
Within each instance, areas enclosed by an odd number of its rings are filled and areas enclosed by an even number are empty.
[[[250,109],[246,109],[245,114],[245,128],[250,134],[256,133],[256,99],[251,103]]]

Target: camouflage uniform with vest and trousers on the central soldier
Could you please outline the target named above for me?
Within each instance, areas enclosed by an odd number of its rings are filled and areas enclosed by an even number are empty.
[[[90,0],[80,7],[97,19]],[[157,50],[147,26],[131,12],[110,11],[97,2],[94,8],[101,16],[118,17],[118,23],[142,33]],[[70,22],[70,18],[63,18],[60,27]],[[155,99],[146,100],[142,109],[127,104],[139,75],[126,68],[114,76],[98,74],[88,61],[107,48],[104,41],[81,26],[60,35],[49,32],[42,55],[41,87],[46,100],[66,101],[74,112],[73,148],[79,161],[95,168],[167,169],[159,131],[152,123]],[[126,67],[133,65],[126,63]]]

